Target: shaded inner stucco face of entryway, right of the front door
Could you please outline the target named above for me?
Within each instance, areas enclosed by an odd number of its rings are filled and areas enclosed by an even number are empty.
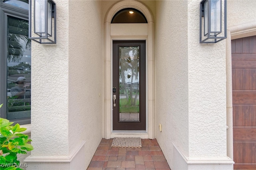
[[[187,6],[186,1],[156,1],[156,138],[171,169],[172,143],[188,156]]]

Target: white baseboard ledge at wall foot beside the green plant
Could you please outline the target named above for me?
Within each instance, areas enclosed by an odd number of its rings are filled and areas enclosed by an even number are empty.
[[[28,156],[24,162],[62,162],[69,163],[72,162],[73,158],[78,154],[81,148],[84,146],[85,141],[83,141],[80,146],[74,150],[74,152],[70,153],[69,156]]]

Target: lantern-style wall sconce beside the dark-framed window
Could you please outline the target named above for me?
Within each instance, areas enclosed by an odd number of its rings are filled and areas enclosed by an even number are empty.
[[[42,44],[55,44],[55,2],[53,0],[29,0],[29,3],[29,38]],[[32,8],[32,5],[34,8]],[[32,24],[34,27],[32,27]]]

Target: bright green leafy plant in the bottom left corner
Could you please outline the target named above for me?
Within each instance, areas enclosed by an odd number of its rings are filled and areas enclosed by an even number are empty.
[[[21,170],[17,154],[27,154],[26,151],[34,149],[28,144],[32,141],[28,139],[28,135],[20,133],[26,128],[20,127],[18,123],[14,126],[12,124],[13,122],[0,118],[0,170]]]

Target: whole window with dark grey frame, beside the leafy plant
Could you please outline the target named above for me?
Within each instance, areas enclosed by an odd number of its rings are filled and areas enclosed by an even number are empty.
[[[28,1],[1,0],[0,110],[1,117],[20,125],[31,117],[31,40]]]

